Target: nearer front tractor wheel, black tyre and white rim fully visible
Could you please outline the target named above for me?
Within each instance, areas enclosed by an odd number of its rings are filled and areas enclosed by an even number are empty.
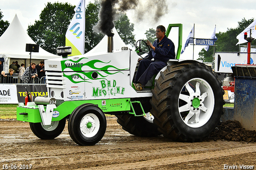
[[[68,132],[79,145],[94,145],[106,132],[106,117],[95,105],[82,105],[70,116]]]

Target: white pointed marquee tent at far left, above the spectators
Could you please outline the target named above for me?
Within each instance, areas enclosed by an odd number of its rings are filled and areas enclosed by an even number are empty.
[[[12,61],[18,61],[21,64],[26,60],[26,66],[29,64],[30,52],[26,52],[26,43],[36,44],[28,36],[16,14],[10,26],[0,37],[0,59],[4,60],[4,71],[8,73],[9,65]],[[31,56],[32,62],[36,62],[36,64],[44,59],[60,57],[45,51],[41,47],[39,47],[38,53],[32,53]]]

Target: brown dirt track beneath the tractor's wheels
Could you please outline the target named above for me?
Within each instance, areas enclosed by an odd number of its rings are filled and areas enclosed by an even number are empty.
[[[233,169],[242,165],[256,169],[255,142],[181,143],[163,136],[142,138],[122,130],[116,118],[108,118],[106,134],[98,144],[78,146],[67,125],[56,139],[41,140],[29,123],[0,121],[0,168],[32,164],[33,170],[216,170],[233,165]]]

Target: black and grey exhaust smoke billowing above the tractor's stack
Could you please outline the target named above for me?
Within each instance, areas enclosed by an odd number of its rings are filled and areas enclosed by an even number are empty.
[[[114,19],[118,12],[134,10],[138,22],[148,22],[150,19],[157,22],[161,16],[168,13],[166,0],[102,0],[100,3],[99,22],[96,30],[112,37],[112,28],[114,28]]]

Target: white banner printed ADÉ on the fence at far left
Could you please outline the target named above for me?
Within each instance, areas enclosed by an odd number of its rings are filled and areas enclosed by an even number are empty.
[[[18,103],[16,85],[0,84],[0,103]]]

